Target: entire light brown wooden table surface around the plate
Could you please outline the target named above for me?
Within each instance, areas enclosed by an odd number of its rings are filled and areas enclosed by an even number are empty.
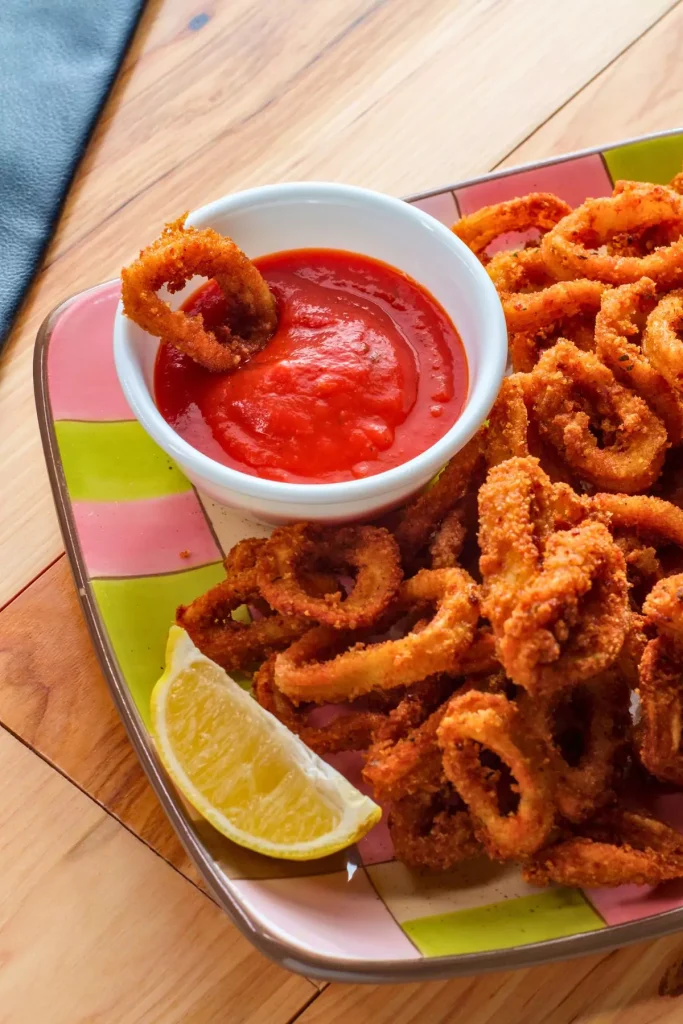
[[[198,886],[76,601],[31,360],[60,299],[224,193],[394,195],[683,123],[678,0],[151,0],[0,362],[0,1024],[653,1024],[683,936],[410,986],[267,963]]]

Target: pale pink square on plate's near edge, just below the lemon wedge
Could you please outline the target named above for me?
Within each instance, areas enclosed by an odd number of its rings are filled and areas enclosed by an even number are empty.
[[[378,897],[362,867],[334,874],[230,886],[264,927],[321,956],[417,959],[419,953]],[[350,965],[349,965],[350,966]]]

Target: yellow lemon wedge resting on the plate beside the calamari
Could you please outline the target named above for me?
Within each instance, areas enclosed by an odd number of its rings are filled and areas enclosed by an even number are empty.
[[[211,824],[270,857],[312,860],[349,846],[381,810],[171,627],[152,694],[159,756]]]

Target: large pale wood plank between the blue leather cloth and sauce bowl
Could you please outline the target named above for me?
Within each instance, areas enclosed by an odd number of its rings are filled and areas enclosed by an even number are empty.
[[[401,193],[485,170],[673,2],[240,0],[196,33],[194,4],[156,4],[163,25],[145,22],[151,50],[115,91],[0,368],[0,604],[61,550],[31,380],[54,304],[236,187],[327,176]]]

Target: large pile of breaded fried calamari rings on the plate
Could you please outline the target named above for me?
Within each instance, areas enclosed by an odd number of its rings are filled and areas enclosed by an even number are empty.
[[[242,542],[178,623],[313,750],[366,752],[408,864],[683,877],[643,809],[683,787],[683,196],[535,195],[454,229],[511,336],[489,419],[381,523]]]

